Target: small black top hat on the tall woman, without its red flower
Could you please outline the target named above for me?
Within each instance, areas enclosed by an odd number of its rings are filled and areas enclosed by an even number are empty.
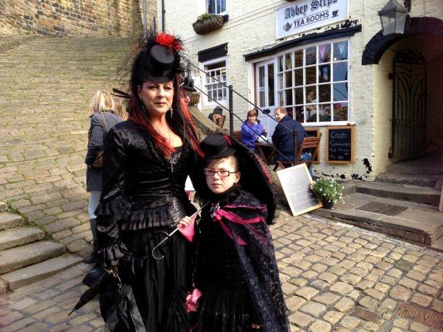
[[[175,56],[168,47],[154,45],[147,53],[147,73],[149,80],[166,83],[174,79]]]

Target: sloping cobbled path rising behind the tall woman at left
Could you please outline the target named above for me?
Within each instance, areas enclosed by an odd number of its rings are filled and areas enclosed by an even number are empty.
[[[0,45],[6,44],[8,36],[1,37]],[[48,245],[51,257],[62,254],[65,246],[68,252],[87,255],[89,102],[98,89],[122,89],[118,80],[125,70],[118,68],[132,50],[131,41],[33,36],[8,41],[14,43],[14,48],[0,46],[0,201],[59,242]],[[9,222],[8,229],[22,221]],[[8,232],[11,240],[1,250],[18,250],[6,248],[17,237],[17,231]],[[27,232],[30,239],[41,236]],[[24,251],[33,251],[28,248]]]

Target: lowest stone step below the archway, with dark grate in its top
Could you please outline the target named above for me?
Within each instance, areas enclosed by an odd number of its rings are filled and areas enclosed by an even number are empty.
[[[427,246],[433,246],[443,236],[443,213],[432,205],[360,193],[344,199],[343,204],[334,205],[334,210],[320,208],[311,214]]]

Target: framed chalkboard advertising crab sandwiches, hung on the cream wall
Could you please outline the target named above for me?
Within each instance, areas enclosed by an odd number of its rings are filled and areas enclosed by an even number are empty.
[[[354,127],[327,127],[326,162],[354,163]]]

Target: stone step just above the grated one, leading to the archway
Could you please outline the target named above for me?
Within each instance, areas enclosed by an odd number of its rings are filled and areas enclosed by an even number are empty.
[[[357,192],[369,194],[387,199],[400,199],[414,201],[422,204],[438,206],[440,203],[440,191],[428,187],[416,185],[400,185],[394,183],[367,182],[356,187]]]

